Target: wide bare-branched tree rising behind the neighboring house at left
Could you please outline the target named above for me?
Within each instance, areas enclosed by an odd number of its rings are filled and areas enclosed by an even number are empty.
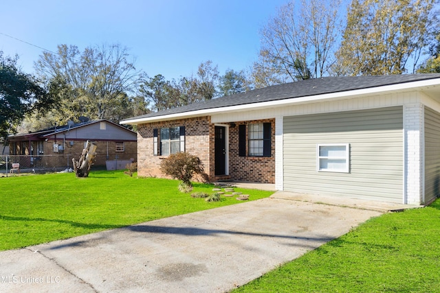
[[[121,45],[87,47],[82,53],[76,46],[58,45],[57,54],[45,51],[35,68],[60,97],[60,119],[118,120],[139,73]]]

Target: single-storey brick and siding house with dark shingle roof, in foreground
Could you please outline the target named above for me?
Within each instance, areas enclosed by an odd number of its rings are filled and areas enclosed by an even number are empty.
[[[140,176],[185,151],[212,181],[404,204],[440,195],[440,74],[304,80],[121,123],[137,125]]]

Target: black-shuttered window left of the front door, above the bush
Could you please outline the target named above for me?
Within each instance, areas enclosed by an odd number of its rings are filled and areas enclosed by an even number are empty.
[[[159,138],[157,137],[159,134]],[[153,154],[169,156],[185,151],[185,127],[169,127],[153,130]]]

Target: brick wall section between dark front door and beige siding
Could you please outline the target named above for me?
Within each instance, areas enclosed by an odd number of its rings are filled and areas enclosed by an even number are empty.
[[[248,156],[248,130],[246,130],[246,156],[239,156],[239,125],[271,124],[271,156]],[[275,183],[275,119],[240,121],[229,128],[229,174],[233,180]]]

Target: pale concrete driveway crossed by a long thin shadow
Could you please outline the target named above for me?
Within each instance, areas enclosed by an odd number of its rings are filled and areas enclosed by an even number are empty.
[[[227,292],[382,213],[276,195],[0,252],[0,292]]]

